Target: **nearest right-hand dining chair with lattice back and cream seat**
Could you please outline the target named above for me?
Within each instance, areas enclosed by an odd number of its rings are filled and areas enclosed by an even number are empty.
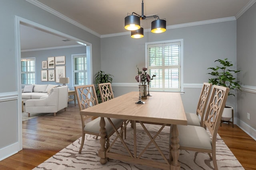
[[[178,138],[180,140],[180,150],[192,150],[196,152],[206,152],[209,154],[213,161],[214,169],[218,170],[216,160],[216,136],[222,112],[225,107],[225,103],[228,97],[229,89],[223,86],[213,86],[209,105],[206,111],[206,119],[203,121],[207,130],[201,126],[193,125],[178,125]],[[170,133],[170,139],[172,134]],[[170,140],[171,141],[171,140]],[[170,142],[170,152],[172,149],[172,143]],[[212,154],[212,155],[211,155]],[[172,160],[172,154],[170,154],[170,160]]]

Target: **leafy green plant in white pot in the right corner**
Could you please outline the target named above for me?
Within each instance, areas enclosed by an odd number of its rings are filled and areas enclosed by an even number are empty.
[[[212,70],[212,72],[208,74],[215,76],[215,78],[209,78],[209,83],[213,85],[224,86],[230,90],[240,89],[240,82],[236,81],[236,78],[234,77],[234,74],[240,72],[240,70],[230,70],[230,67],[232,67],[233,64],[228,61],[227,58],[224,60],[218,59],[214,62],[218,62],[220,66],[207,68],[207,70]],[[235,96],[231,92],[229,92],[228,95]],[[225,106],[222,113],[223,121],[229,121],[232,118],[232,110],[233,107]]]

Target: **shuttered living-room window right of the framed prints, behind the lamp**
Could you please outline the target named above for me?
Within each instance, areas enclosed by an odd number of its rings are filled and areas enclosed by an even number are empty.
[[[72,55],[74,86],[88,84],[88,62],[86,54]]]

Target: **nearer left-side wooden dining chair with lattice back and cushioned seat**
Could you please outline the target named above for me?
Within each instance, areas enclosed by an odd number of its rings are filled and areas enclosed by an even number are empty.
[[[88,107],[92,107],[98,104],[98,99],[96,96],[96,91],[94,85],[83,85],[83,86],[75,86],[76,98],[78,101],[79,109],[86,109]],[[80,146],[79,153],[81,153],[83,145],[84,145],[84,138],[85,134],[96,135],[97,137],[100,134],[100,117],[90,121],[89,123],[85,124],[86,115],[81,115],[82,121],[82,142]],[[104,118],[106,125],[106,148],[110,146],[109,144],[109,137],[114,134],[114,128],[110,124],[107,118]],[[112,123],[114,124],[116,129],[123,128],[123,120],[122,119],[111,119]],[[97,139],[96,137],[96,139]]]

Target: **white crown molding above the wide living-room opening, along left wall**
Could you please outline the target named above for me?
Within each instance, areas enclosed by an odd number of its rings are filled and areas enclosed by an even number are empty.
[[[85,31],[88,31],[89,33],[92,33],[93,35],[96,35],[97,37],[100,37],[100,34],[96,33],[95,31],[92,31],[91,29],[85,27],[84,25],[64,16],[63,14],[60,14],[59,12],[53,10],[52,8],[49,8],[48,6],[42,4],[41,2],[38,2],[37,0],[26,0],[27,2],[30,2],[31,4],[38,6],[39,8],[42,8],[43,10],[46,10],[47,12],[50,12],[51,14],[54,14],[55,16],[68,21],[69,23],[72,23],[73,25],[76,25],[77,27],[80,27],[81,29],[84,29]]]

